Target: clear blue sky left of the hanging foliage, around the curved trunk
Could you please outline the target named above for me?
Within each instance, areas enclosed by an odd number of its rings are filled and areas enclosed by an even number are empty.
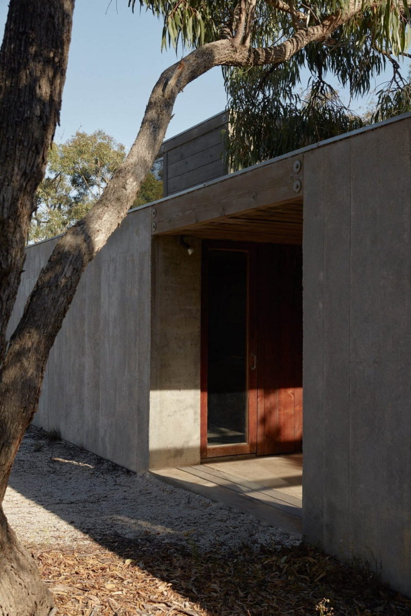
[[[76,0],[57,141],[78,129],[102,129],[129,148],[155,81],[176,62],[174,51],[160,51],[162,25],[157,18],[139,10],[132,14],[127,0],[109,2]],[[6,16],[2,0],[2,28]],[[219,113],[225,105],[221,69],[215,68],[179,95],[166,136]]]

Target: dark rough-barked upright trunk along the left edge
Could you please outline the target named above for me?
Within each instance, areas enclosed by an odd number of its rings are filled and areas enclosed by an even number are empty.
[[[59,121],[74,0],[11,0],[0,49],[0,364]]]

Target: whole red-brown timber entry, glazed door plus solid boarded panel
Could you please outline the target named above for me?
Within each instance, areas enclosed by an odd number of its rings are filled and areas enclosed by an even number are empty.
[[[201,457],[301,450],[301,246],[204,243]]]

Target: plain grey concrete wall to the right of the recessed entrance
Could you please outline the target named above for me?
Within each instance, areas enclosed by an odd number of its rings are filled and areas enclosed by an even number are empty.
[[[411,119],[304,157],[304,533],[411,594]]]

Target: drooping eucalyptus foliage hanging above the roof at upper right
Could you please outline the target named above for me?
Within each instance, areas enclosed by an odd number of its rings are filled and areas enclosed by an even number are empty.
[[[136,0],[129,4],[134,7]],[[250,46],[279,49],[309,30],[329,32],[328,26],[340,14],[341,23],[332,35],[309,41],[287,62],[223,67],[231,168],[411,110],[410,85],[400,64],[409,58],[410,44],[409,6],[402,0],[140,0],[140,6],[163,18],[161,44],[176,50],[234,39],[241,20]],[[386,68],[391,68],[392,78],[376,92],[372,113],[364,118],[352,112],[338,92],[343,90],[355,101],[372,91]]]

